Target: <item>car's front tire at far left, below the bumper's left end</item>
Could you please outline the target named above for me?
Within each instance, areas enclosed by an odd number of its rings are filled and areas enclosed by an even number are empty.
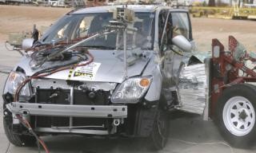
[[[30,135],[18,135],[15,134],[12,128],[12,116],[3,117],[3,127],[6,132],[6,137],[9,139],[10,143],[17,147],[27,147],[35,146],[36,139],[34,136]]]

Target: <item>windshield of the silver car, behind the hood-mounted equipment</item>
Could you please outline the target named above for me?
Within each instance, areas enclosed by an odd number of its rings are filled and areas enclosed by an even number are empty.
[[[41,37],[42,43],[69,41],[78,37],[86,37],[101,32],[110,25],[112,13],[70,14],[59,19]],[[130,25],[136,32],[127,31],[127,49],[153,49],[154,45],[154,13],[135,13],[135,22]],[[122,33],[110,33],[86,41],[82,46],[102,49],[122,49]]]

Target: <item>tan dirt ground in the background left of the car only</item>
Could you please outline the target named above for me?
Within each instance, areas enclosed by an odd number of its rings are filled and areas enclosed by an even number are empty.
[[[33,25],[50,26],[71,9],[37,6],[0,5],[0,41],[6,41],[8,33],[31,31]]]

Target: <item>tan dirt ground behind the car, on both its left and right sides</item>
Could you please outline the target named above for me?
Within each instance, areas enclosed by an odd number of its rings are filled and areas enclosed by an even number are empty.
[[[37,6],[0,6],[0,42],[8,33],[30,31],[34,24],[50,26],[71,9]],[[211,39],[218,38],[227,45],[227,37],[234,35],[249,51],[256,51],[256,21],[191,18],[194,40],[200,51],[210,51]]]

